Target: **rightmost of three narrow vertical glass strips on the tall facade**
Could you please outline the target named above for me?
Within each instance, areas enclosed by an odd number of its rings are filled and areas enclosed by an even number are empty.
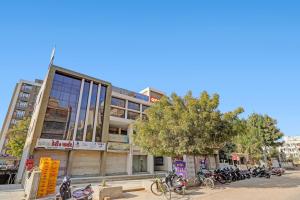
[[[99,111],[97,116],[97,128],[96,128],[96,142],[102,141],[102,129],[103,129],[103,120],[104,120],[104,108],[105,108],[105,100],[106,100],[106,92],[107,87],[101,85],[100,91],[100,100],[99,100]]]

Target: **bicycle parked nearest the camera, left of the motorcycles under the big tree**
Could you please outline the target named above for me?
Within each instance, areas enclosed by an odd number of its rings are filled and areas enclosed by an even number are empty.
[[[168,184],[162,178],[155,178],[151,184],[151,192],[156,196],[162,196],[167,200],[171,199],[171,190]]]

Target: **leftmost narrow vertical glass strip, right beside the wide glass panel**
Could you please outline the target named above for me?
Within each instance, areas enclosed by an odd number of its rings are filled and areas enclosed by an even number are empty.
[[[78,120],[78,127],[77,127],[77,133],[76,133],[77,141],[83,140],[86,109],[87,109],[87,104],[88,104],[88,99],[89,99],[90,85],[91,84],[89,82],[87,82],[87,81],[84,82],[82,100],[81,100],[81,106],[80,106],[80,113],[79,113],[79,120]],[[63,98],[65,98],[65,97],[63,97]]]

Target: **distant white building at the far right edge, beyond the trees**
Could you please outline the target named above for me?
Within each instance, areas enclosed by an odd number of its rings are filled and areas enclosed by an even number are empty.
[[[279,151],[284,153],[286,158],[300,159],[300,136],[283,137],[283,145],[279,147]]]

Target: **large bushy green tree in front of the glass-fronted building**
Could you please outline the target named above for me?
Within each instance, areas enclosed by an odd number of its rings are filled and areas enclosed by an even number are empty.
[[[152,155],[182,156],[209,154],[237,135],[235,123],[243,112],[238,108],[222,113],[219,95],[203,92],[199,98],[188,92],[173,93],[146,111],[146,119],[134,125],[134,143]]]

